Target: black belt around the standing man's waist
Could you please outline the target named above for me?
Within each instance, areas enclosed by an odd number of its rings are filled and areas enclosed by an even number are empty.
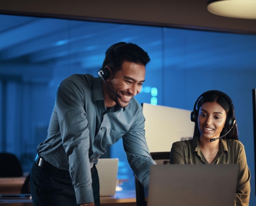
[[[60,176],[63,176],[63,177],[66,177],[66,176],[70,177],[68,170],[59,169],[59,168],[51,165],[49,162],[45,161],[44,159],[42,159],[39,156],[36,160],[36,164],[39,167],[41,167],[41,168],[43,168],[43,169],[45,169],[45,170],[47,170],[50,173],[53,173],[55,175],[60,175]],[[94,166],[95,166],[95,164],[94,164]],[[91,174],[93,174],[93,172],[94,172],[94,166],[91,168]]]

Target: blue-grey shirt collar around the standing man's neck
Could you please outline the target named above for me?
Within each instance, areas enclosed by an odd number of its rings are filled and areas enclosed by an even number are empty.
[[[102,79],[100,77],[95,79],[95,82],[93,85],[92,101],[94,102],[97,100],[103,100],[103,102],[104,102],[104,96],[103,96],[103,90],[102,90]],[[121,108],[116,105],[114,111],[115,112],[120,111],[120,110],[122,111],[122,109],[123,109],[123,111],[126,110],[126,108]]]

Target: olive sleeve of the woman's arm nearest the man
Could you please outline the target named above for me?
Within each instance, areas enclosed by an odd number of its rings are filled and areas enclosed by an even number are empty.
[[[170,153],[170,164],[185,164],[184,149],[178,143],[179,142],[174,142],[172,144]]]

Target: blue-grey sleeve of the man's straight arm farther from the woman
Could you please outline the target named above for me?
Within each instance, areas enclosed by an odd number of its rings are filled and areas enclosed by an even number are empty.
[[[77,204],[94,202],[85,98],[85,92],[70,80],[64,80],[58,87],[57,115]]]

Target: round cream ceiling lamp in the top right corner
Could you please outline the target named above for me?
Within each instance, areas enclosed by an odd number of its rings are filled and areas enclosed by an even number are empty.
[[[208,0],[213,14],[239,19],[256,19],[256,0]]]

